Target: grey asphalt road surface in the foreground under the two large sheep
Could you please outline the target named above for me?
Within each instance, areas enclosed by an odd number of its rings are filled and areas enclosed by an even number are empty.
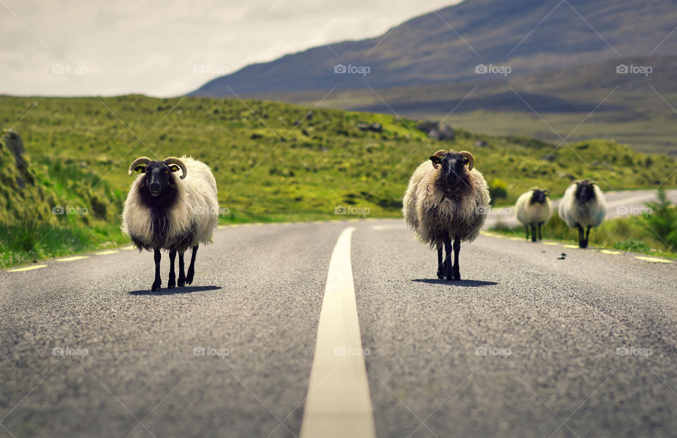
[[[0,437],[298,436],[349,227],[378,437],[677,436],[676,263],[485,233],[450,284],[367,220],[219,229],[158,293],[133,250],[0,272]]]

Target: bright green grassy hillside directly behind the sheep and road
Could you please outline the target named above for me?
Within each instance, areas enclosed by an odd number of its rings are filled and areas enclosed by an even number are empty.
[[[59,254],[50,249],[58,239],[41,246],[50,240],[42,234],[54,226],[66,233],[79,230],[71,240],[84,242],[82,248],[124,241],[116,227],[133,181],[126,169],[142,155],[190,154],[212,166],[224,207],[221,223],[398,217],[411,172],[443,148],[475,155],[497,204],[514,202],[532,185],[561,193],[583,177],[597,179],[603,189],[654,188],[665,178],[664,186],[677,185],[674,159],[605,140],[555,150],[530,138],[457,130],[455,141],[438,142],[425,138],[415,122],[384,114],[316,109],[306,118],[307,111],[237,99],[0,97],[0,126],[20,119],[13,130],[23,138],[30,169],[17,168],[6,149],[0,150],[5,230],[0,263]],[[382,123],[383,131],[360,130],[360,121]],[[20,174],[25,188],[16,183]],[[53,214],[58,206],[67,214]],[[78,214],[78,208],[87,214]],[[21,247],[28,255],[18,256],[8,236],[16,236],[11,227],[25,221],[44,239],[29,241]]]

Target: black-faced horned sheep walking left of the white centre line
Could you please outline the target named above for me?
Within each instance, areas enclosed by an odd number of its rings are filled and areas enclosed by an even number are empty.
[[[175,172],[181,169],[181,176]],[[132,183],[122,214],[122,231],[139,250],[153,250],[155,281],[161,286],[160,250],[169,250],[168,288],[176,286],[174,260],[178,253],[178,286],[193,283],[195,256],[200,243],[212,243],[219,214],[216,181],[209,167],[190,157],[153,161],[135,159],[127,173],[140,174]],[[192,248],[188,275],[183,253]]]

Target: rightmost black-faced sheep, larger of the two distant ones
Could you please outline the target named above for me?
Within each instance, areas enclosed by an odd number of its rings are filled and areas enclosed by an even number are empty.
[[[587,248],[590,229],[602,224],[605,216],[606,200],[596,182],[576,180],[568,186],[559,204],[559,217],[569,228],[578,229],[579,248]]]

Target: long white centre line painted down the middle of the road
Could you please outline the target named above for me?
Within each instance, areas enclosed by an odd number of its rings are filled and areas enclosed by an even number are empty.
[[[353,231],[341,232],[331,254],[301,438],[376,437],[350,264]]]

